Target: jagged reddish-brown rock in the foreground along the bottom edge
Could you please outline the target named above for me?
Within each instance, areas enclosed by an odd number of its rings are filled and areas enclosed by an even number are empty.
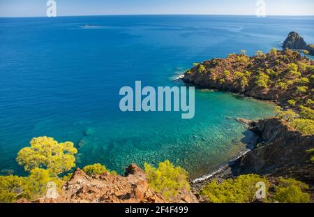
[[[22,200],[20,202],[28,202]],[[126,168],[124,177],[104,173],[89,177],[77,168],[70,181],[61,188],[54,199],[40,198],[38,203],[164,203],[198,202],[189,190],[181,190],[177,197],[167,201],[162,195],[149,188],[144,171],[137,165]]]

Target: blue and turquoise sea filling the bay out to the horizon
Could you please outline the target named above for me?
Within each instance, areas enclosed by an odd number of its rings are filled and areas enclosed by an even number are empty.
[[[134,15],[0,18],[0,170],[23,174],[17,152],[32,137],[84,140],[77,165],[170,159],[207,174],[246,149],[234,118],[260,119],[274,106],[197,90],[195,118],[181,112],[121,112],[119,89],[184,85],[194,62],[232,52],[280,49],[290,31],[314,43],[314,17]]]

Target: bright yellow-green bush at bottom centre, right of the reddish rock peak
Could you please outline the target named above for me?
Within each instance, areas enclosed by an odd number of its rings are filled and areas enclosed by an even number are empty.
[[[169,160],[152,167],[145,163],[145,173],[151,189],[161,193],[167,200],[175,197],[181,189],[190,189],[188,172],[181,167],[174,167]]]

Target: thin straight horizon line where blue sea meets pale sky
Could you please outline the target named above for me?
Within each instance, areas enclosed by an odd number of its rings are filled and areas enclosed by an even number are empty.
[[[152,16],[156,16],[156,15],[199,15],[199,16],[251,16],[251,17],[257,17],[257,15],[254,14],[243,14],[243,15],[239,15],[239,14],[194,14],[194,13],[190,13],[190,14],[171,14],[171,13],[151,13],[151,14],[105,14],[105,15],[57,15],[57,17],[100,17],[100,16],[148,16],[148,15],[152,15]],[[44,18],[47,16],[0,16],[0,18]],[[258,17],[258,18],[266,18],[266,17],[314,17],[313,15],[266,15],[265,17]]]

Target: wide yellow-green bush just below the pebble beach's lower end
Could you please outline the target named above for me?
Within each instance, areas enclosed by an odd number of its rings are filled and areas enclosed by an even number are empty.
[[[208,202],[214,203],[253,202],[256,199],[256,184],[260,181],[264,182],[266,186],[267,196],[269,182],[257,174],[247,174],[239,176],[237,179],[227,179],[221,184],[213,180],[200,191],[200,194],[204,195]]]

